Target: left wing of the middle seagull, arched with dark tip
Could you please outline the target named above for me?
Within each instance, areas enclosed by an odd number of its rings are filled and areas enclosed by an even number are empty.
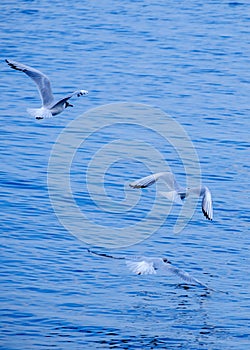
[[[136,180],[131,184],[129,184],[129,186],[133,188],[145,188],[153,185],[159,179],[163,179],[171,189],[179,188],[175,180],[174,174],[171,172],[155,173],[155,174],[143,177],[142,179]]]

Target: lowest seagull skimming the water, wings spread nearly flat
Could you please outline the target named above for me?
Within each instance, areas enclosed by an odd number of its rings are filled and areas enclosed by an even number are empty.
[[[111,259],[122,259],[125,260],[128,269],[135,273],[136,275],[155,275],[158,272],[170,273],[177,275],[179,278],[187,283],[200,285],[209,290],[214,290],[209,288],[206,284],[200,282],[196,278],[192,277],[188,272],[179,269],[171,264],[167,258],[154,258],[146,256],[113,256],[105,253],[97,253],[90,249],[87,249],[89,253],[111,258]]]

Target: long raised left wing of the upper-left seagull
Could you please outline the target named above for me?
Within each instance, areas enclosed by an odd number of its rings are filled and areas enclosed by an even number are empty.
[[[11,68],[24,72],[31,79],[34,80],[34,82],[38,87],[38,90],[43,102],[43,106],[45,107],[49,106],[53,102],[54,97],[51,90],[50,81],[45,74],[41,73],[37,69],[31,68],[29,66],[25,66],[24,64],[21,64],[19,62],[10,61],[10,60],[6,60],[6,62]]]

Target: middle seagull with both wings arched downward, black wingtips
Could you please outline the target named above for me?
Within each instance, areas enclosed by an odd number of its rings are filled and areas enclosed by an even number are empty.
[[[169,192],[160,192],[160,194],[172,202],[183,204],[183,200],[190,194],[197,194],[202,197],[202,212],[206,219],[213,220],[213,204],[212,195],[208,187],[192,187],[192,188],[181,188],[171,172],[161,172],[152,174],[142,179],[136,180],[129,184],[132,188],[146,188],[153,185],[159,179],[163,179],[167,186],[171,189]]]

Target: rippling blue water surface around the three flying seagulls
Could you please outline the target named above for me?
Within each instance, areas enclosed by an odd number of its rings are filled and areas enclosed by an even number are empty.
[[[246,0],[1,1],[1,349],[249,347],[249,13]],[[63,114],[36,122],[26,112],[39,107],[35,86],[5,58],[42,70],[58,96],[78,88],[89,95],[72,100],[74,108]],[[98,112],[81,119],[77,135],[85,143],[70,168],[75,203],[93,228],[71,219],[69,212],[69,222],[88,237],[85,242],[63,226],[49,197],[51,151],[71,122],[110,103],[160,108],[184,127],[198,154],[202,181],[213,194],[213,222],[198,205],[176,234],[180,208],[168,207],[165,215],[161,199],[145,227],[150,231],[162,223],[136,241],[133,223],[147,218],[156,191],[145,190],[135,207],[125,210],[121,202],[131,191],[124,184],[163,164],[144,146],[158,150],[185,185],[183,159],[154,130],[145,131],[142,118],[144,130],[131,126],[131,115],[118,113],[116,124],[112,119],[111,126],[89,135],[92,120],[95,126],[104,123]],[[145,117],[145,123],[163,130],[164,118],[155,116]],[[128,145],[143,139],[144,145]],[[109,144],[111,153],[100,155],[108,165],[105,192],[96,203],[86,173],[100,175],[98,161],[91,171],[88,166]],[[142,158],[133,158],[137,149]],[[112,162],[110,154],[117,157]],[[91,183],[97,192],[99,181]],[[67,212],[63,195],[59,204]],[[105,211],[106,200],[112,210]],[[108,249],[119,241],[121,227],[132,241],[135,235],[134,244],[128,239],[127,246]],[[98,245],[96,237],[102,238],[105,229],[112,235]],[[122,261],[92,256],[86,246],[112,254],[166,255],[228,294],[179,284],[175,276],[133,275]]]

